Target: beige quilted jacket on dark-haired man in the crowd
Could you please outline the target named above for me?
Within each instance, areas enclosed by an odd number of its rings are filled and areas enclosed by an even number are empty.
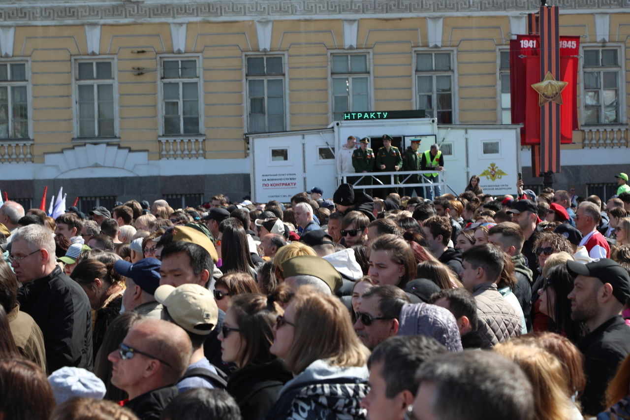
[[[481,348],[520,335],[520,316],[496,289],[496,283],[481,283],[473,288],[477,303]]]

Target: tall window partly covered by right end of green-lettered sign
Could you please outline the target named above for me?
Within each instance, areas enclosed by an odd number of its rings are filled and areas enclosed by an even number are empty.
[[[418,109],[440,124],[453,124],[453,64],[450,52],[416,53]]]

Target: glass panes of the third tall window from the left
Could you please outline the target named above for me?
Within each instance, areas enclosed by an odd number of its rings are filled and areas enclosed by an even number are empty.
[[[165,135],[201,132],[198,74],[196,59],[163,59],[162,112]]]

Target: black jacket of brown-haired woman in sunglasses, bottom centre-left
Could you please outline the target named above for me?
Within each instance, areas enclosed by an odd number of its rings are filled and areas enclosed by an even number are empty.
[[[227,392],[236,400],[243,420],[258,420],[278,399],[282,386],[292,379],[293,375],[280,361],[246,366],[232,373]]]

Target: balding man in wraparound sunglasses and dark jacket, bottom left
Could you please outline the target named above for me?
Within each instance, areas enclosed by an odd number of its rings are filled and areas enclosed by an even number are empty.
[[[178,394],[175,384],[191,354],[190,338],[178,325],[148,318],[137,322],[108,356],[112,385],[129,394],[120,404],[141,420],[160,419]]]

